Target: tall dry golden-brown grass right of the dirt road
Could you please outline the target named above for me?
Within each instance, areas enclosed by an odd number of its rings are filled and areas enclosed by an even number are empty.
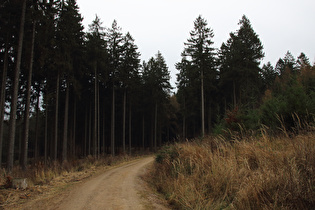
[[[315,133],[178,143],[150,182],[178,209],[314,209]]]

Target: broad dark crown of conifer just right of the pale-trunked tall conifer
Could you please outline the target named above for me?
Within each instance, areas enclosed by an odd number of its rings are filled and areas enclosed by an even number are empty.
[[[229,104],[253,105],[260,95],[263,45],[244,15],[219,51],[220,87]]]

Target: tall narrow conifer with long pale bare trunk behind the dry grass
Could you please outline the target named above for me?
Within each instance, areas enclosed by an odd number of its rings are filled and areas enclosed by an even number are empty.
[[[199,107],[194,107],[194,109],[201,110],[201,136],[205,134],[205,107],[211,109],[211,101],[213,100],[213,91],[215,90],[215,80],[216,80],[216,69],[215,69],[215,52],[213,45],[213,30],[208,28],[208,23],[205,19],[199,16],[194,21],[194,29],[190,32],[190,38],[185,43],[185,49],[182,53],[184,57],[182,60],[182,67],[186,66],[185,63],[189,62],[190,68],[186,70],[182,69],[178,75],[178,82],[180,84],[179,89],[183,86],[184,81],[181,79],[187,80],[184,83],[188,83],[190,87],[193,87],[195,91],[193,97],[198,97]],[[177,68],[181,69],[181,64],[178,64]],[[189,71],[186,72],[185,71]],[[198,88],[199,86],[199,88]],[[185,88],[184,88],[185,89]],[[192,90],[192,89],[190,89]],[[180,90],[179,90],[180,91]],[[188,94],[188,92],[183,91],[183,93]],[[205,100],[208,99],[207,102]],[[185,97],[187,98],[187,97]],[[195,101],[195,99],[191,99]]]

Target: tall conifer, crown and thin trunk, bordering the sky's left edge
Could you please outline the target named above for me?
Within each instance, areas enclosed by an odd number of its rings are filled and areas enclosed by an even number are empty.
[[[64,128],[62,160],[67,160],[68,151],[68,116],[69,116],[69,91],[76,86],[76,75],[82,68],[84,32],[82,17],[76,0],[62,1],[60,3],[60,17],[57,22],[57,51],[58,68],[62,78],[63,88],[66,92],[64,106]]]

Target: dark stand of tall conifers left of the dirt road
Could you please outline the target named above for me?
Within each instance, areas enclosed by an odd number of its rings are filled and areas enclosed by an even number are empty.
[[[0,3],[0,163],[156,150],[175,135],[169,71],[75,0]]]

